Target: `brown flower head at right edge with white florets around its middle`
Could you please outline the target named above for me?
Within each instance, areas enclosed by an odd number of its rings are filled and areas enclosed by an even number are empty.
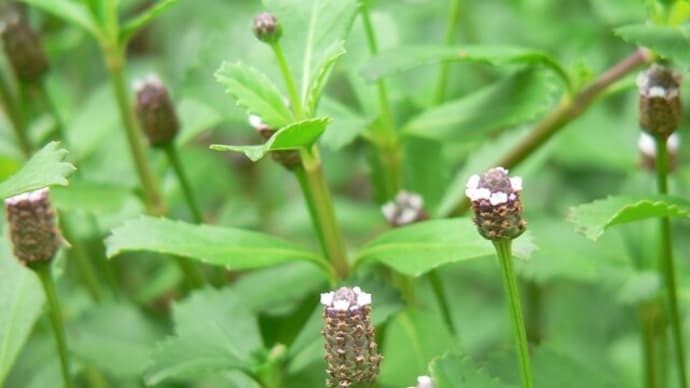
[[[681,79],[678,73],[656,64],[637,77],[640,127],[650,135],[666,138],[678,129]]]

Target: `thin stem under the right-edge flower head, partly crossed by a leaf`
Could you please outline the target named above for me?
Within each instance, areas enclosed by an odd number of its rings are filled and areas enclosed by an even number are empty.
[[[656,137],[656,175],[657,189],[660,194],[668,194],[668,150],[666,149],[666,137]],[[666,297],[670,313],[671,332],[678,365],[678,377],[681,388],[688,387],[685,364],[685,349],[683,344],[683,330],[680,325],[680,312],[676,292],[676,275],[673,263],[673,247],[671,242],[671,219],[662,217],[661,227],[661,258],[659,260],[659,272],[666,285]]]

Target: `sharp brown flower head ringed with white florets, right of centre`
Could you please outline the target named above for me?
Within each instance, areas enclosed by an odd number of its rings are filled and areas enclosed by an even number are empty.
[[[503,167],[472,175],[465,195],[472,201],[472,220],[479,234],[489,240],[514,239],[525,231],[522,219],[522,178],[508,176]]]

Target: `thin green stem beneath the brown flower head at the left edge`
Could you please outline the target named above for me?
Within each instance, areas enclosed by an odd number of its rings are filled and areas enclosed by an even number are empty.
[[[67,341],[65,340],[65,328],[62,324],[62,313],[60,312],[60,303],[58,302],[57,293],[55,292],[55,283],[51,276],[50,262],[41,263],[34,267],[36,274],[38,274],[43,290],[46,294],[48,302],[48,309],[50,310],[50,320],[53,325],[53,334],[55,342],[57,343],[58,354],[60,356],[60,368],[62,370],[62,377],[65,382],[65,388],[74,388],[72,382],[72,374],[69,368],[69,355],[67,354]]]

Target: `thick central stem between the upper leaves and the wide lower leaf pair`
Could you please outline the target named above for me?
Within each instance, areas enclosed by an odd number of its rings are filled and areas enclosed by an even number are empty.
[[[313,222],[316,229],[320,229],[323,237],[324,251],[336,273],[341,279],[347,277],[349,264],[345,253],[345,243],[342,232],[335,217],[331,192],[326,184],[326,178],[321,168],[321,160],[315,146],[311,150],[300,151],[304,177],[298,179],[306,187],[305,200],[311,202],[309,206],[313,212]],[[299,170],[298,170],[299,171]]]

